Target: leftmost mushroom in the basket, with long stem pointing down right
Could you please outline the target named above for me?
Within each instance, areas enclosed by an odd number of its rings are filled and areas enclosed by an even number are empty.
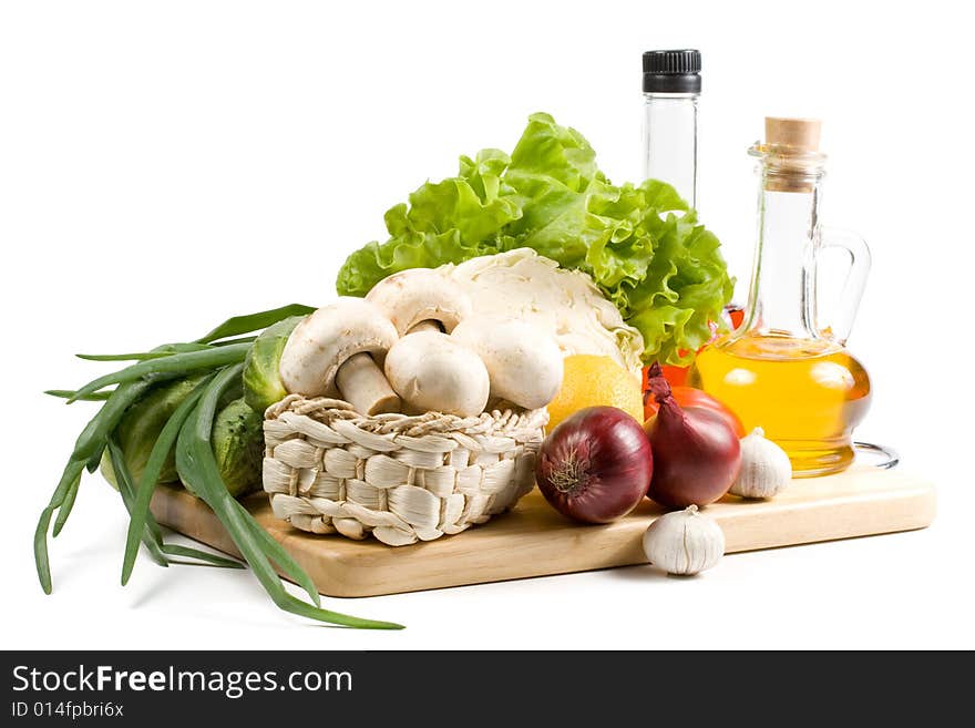
[[[305,397],[341,397],[361,414],[399,412],[400,399],[372,358],[398,338],[376,306],[339,298],[295,327],[281,352],[281,382]]]

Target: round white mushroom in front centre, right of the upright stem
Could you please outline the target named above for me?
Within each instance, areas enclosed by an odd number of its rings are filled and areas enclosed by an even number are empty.
[[[397,341],[386,357],[389,383],[418,411],[474,417],[484,411],[491,382],[481,358],[440,331]]]

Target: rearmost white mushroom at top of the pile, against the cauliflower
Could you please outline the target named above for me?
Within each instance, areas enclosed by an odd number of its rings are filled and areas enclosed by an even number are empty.
[[[383,278],[366,295],[400,336],[453,328],[471,314],[471,301],[453,280],[431,268],[411,268]]]

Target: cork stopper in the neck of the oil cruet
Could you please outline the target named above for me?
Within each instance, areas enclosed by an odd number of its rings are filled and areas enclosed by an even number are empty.
[[[825,156],[819,151],[818,119],[766,116],[764,144],[753,147],[763,158],[764,187],[773,192],[812,192]]]

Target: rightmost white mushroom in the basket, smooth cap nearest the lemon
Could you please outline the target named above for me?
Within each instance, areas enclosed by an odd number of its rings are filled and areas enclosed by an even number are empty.
[[[555,399],[562,387],[562,351],[537,326],[503,316],[472,316],[451,337],[484,361],[492,397],[534,410]]]

